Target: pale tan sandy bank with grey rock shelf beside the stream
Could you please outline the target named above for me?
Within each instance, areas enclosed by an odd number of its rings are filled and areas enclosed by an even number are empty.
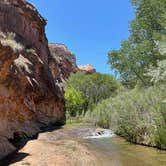
[[[28,141],[4,165],[98,165],[94,152],[79,139],[91,135],[94,131],[95,127],[67,125],[50,132],[40,133],[36,140]]]

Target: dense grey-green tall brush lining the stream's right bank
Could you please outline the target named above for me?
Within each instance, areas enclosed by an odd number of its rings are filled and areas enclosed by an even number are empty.
[[[128,141],[166,148],[166,86],[125,90],[88,111],[85,120]]]

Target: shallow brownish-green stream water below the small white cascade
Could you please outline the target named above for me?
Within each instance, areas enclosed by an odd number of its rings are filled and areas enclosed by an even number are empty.
[[[166,151],[131,144],[112,134],[88,137],[85,143],[103,166],[166,166]]]

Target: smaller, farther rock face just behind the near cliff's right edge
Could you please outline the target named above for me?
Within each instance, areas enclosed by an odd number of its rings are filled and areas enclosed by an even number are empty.
[[[51,53],[49,66],[58,81],[65,80],[71,72],[78,70],[74,54],[64,44],[49,44],[49,50]]]

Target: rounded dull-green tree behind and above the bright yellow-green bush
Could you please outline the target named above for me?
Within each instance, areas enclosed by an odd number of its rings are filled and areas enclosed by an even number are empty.
[[[95,73],[87,75],[83,72],[71,74],[65,83],[65,89],[74,89],[83,93],[87,105],[84,110],[91,109],[99,101],[116,94],[119,84],[109,74]]]

